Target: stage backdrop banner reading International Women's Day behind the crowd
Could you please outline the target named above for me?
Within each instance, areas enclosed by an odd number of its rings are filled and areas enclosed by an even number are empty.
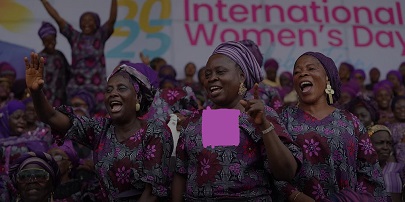
[[[105,22],[111,3],[49,2],[77,29],[85,11],[99,13]],[[142,51],[150,58],[165,58],[181,79],[187,62],[201,67],[219,43],[245,38],[257,42],[265,58],[277,59],[280,72],[291,71],[305,51],[320,51],[337,64],[347,61],[366,71],[378,67],[384,78],[387,70],[405,61],[401,0],[119,0],[118,4],[115,32],[105,50],[107,73],[120,60],[139,62]],[[56,26],[39,0],[0,1],[0,41],[40,51],[37,31],[42,21]],[[57,42],[70,61],[67,40],[58,34]],[[0,46],[0,60],[6,47]]]

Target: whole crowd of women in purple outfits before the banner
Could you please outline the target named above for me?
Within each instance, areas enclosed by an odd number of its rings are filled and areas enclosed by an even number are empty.
[[[198,82],[193,63],[177,80],[142,54],[106,77],[116,0],[103,25],[84,13],[81,32],[41,2],[72,64],[49,22],[20,90],[0,64],[1,201],[402,201],[405,63],[365,85],[363,70],[305,52],[278,77],[242,40],[219,44]],[[238,144],[206,146],[207,109],[238,112],[219,134],[236,129]]]

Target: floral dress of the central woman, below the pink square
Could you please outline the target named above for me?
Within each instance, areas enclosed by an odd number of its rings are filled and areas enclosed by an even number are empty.
[[[266,107],[267,119],[279,138],[300,165],[301,150],[286,133],[277,113]],[[246,113],[239,116],[238,146],[204,148],[202,111],[196,111],[181,132],[176,148],[176,172],[186,176],[185,198],[189,201],[246,200],[272,201],[273,179],[261,131],[249,122]],[[226,135],[226,134],[224,134]]]

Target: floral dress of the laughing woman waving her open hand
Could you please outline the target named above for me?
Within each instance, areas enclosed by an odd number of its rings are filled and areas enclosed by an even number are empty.
[[[119,142],[111,119],[78,117],[65,106],[59,110],[72,123],[65,138],[93,150],[96,174],[106,200],[121,201],[128,193],[142,193],[145,183],[151,184],[155,196],[167,196],[173,141],[166,124],[158,120],[147,122],[130,138]],[[60,142],[63,138],[55,139]]]

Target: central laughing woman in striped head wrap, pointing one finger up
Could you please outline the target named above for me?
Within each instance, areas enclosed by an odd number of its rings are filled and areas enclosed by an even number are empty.
[[[252,41],[230,41],[209,58],[204,87],[213,109],[241,112],[240,144],[203,147],[203,111],[192,114],[176,148],[173,201],[271,201],[273,177],[289,180],[295,175],[302,154],[284,132],[277,113],[258,99],[258,86],[254,99],[242,100],[263,79],[259,57]]]

